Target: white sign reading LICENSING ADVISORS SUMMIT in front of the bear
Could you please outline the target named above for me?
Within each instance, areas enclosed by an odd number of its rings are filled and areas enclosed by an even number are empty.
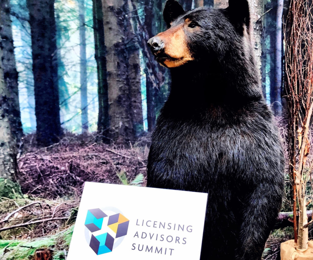
[[[67,260],[200,259],[207,194],[86,182]]]

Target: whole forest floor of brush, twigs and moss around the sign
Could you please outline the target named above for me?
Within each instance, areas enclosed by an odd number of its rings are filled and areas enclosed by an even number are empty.
[[[41,149],[34,139],[25,137],[18,156],[21,189],[13,189],[10,198],[0,192],[3,260],[66,259],[85,181],[146,185],[149,136],[127,148],[97,143],[93,135],[68,133]],[[280,243],[292,239],[292,233],[290,227],[274,230],[264,259],[280,259]]]

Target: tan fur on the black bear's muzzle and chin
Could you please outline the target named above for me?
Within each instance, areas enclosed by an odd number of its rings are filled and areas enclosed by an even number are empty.
[[[187,47],[183,26],[182,24],[170,28],[157,35],[165,44],[165,53],[172,58],[162,61],[162,65],[168,68],[178,67],[185,64],[187,61],[193,60],[189,48]]]

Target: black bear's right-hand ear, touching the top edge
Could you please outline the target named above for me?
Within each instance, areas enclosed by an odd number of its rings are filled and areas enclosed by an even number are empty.
[[[250,11],[247,0],[229,0],[227,9],[231,21],[238,29],[242,28],[243,25],[249,28]]]

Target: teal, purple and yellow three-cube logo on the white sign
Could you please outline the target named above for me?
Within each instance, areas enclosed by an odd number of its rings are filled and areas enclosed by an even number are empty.
[[[100,208],[89,209],[85,220],[85,228],[89,233],[86,236],[87,242],[97,255],[112,252],[128,230],[129,220],[124,215],[110,215],[112,210],[105,212]]]

